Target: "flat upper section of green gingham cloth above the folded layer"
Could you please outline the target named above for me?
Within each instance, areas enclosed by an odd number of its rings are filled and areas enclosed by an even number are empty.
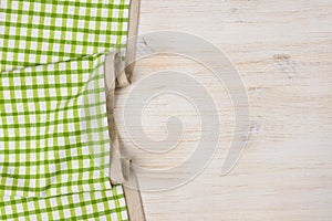
[[[129,0],[1,0],[0,71],[124,50]]]

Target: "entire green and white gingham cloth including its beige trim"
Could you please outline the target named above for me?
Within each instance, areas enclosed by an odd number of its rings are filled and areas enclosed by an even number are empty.
[[[0,220],[144,220],[113,118],[138,6],[0,1]]]

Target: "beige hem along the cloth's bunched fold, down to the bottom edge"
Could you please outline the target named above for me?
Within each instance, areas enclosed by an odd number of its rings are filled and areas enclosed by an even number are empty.
[[[110,52],[105,56],[105,92],[108,118],[108,131],[111,137],[111,164],[110,178],[112,185],[123,185],[129,220],[144,221],[145,214],[141,199],[138,180],[132,167],[132,160],[121,155],[118,134],[114,119],[114,98],[116,76],[122,71],[123,62],[118,54]]]

